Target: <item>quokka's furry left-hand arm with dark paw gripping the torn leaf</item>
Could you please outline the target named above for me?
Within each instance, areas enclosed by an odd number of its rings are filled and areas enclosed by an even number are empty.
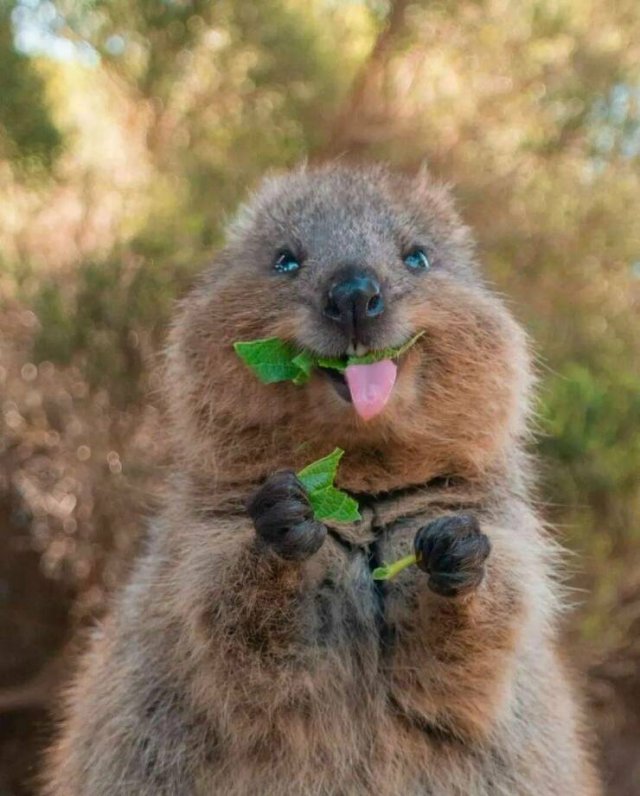
[[[191,603],[183,613],[196,617],[199,637],[218,656],[268,668],[290,658],[313,625],[305,598],[326,569],[326,556],[316,554],[327,529],[293,472],[268,478],[247,510],[214,540],[203,529],[201,547],[192,536],[176,581]]]

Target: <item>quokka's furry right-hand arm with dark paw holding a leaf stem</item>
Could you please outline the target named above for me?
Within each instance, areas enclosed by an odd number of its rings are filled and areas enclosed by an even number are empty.
[[[528,531],[449,515],[415,537],[420,569],[396,632],[394,700],[464,738],[486,737],[508,710],[523,634],[545,639],[536,612],[550,601]],[[547,606],[548,610],[548,606]]]

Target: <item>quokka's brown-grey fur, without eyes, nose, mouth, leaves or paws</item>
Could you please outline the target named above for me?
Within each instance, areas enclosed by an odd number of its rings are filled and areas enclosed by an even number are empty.
[[[416,242],[428,273],[402,263]],[[272,271],[282,246],[306,256],[293,277]],[[231,347],[344,353],[319,302],[345,263],[386,294],[371,347],[426,332],[369,423],[321,374],[265,386]],[[530,386],[524,335],[444,188],[342,167],[267,181],[173,328],[173,497],[84,660],[45,792],[597,794],[555,649],[555,548],[528,497]],[[336,445],[363,519],[287,561],[246,500]],[[374,552],[406,555],[462,511],[491,543],[477,589],[439,596],[418,567],[376,589]]]

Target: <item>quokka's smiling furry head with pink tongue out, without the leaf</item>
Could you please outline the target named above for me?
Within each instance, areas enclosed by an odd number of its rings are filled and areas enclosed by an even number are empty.
[[[233,343],[397,360],[265,385]],[[325,166],[267,179],[183,304],[170,346],[178,448],[201,472],[266,475],[340,445],[343,483],[473,476],[523,431],[524,336],[484,285],[448,191],[426,174]]]

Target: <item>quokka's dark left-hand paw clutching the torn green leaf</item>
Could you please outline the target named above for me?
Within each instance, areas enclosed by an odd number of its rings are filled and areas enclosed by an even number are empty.
[[[312,556],[327,535],[326,527],[313,518],[307,493],[290,470],[269,476],[249,500],[247,510],[258,537],[290,561]]]

